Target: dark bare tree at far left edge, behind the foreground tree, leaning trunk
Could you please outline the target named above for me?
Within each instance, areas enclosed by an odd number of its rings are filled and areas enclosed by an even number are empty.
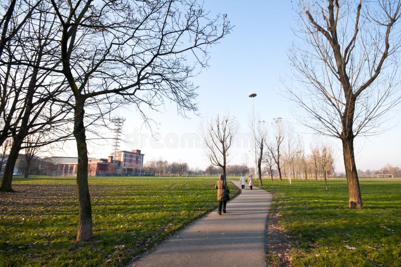
[[[24,2],[26,9],[31,9]],[[47,132],[52,136],[42,145],[65,140],[71,134],[68,130],[69,110],[58,99],[65,92],[65,79],[54,79],[49,65],[60,64],[51,58],[50,51],[57,46],[52,44],[58,29],[52,24],[56,18],[48,13],[49,7],[40,2],[30,12],[30,17],[13,35],[7,45],[2,46],[0,57],[3,86],[1,112],[7,114],[0,133],[0,141],[12,136],[8,160],[5,166],[0,191],[11,192],[14,167],[24,139],[37,132]],[[25,7],[25,6],[24,6]],[[18,24],[20,17],[12,17]],[[4,98],[3,98],[4,96]]]

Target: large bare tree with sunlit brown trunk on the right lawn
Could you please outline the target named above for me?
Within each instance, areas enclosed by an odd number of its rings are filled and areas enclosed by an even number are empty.
[[[348,206],[362,208],[354,139],[377,126],[399,102],[395,30],[401,3],[380,0],[299,1],[300,40],[290,51],[301,84],[290,97],[306,111],[305,125],[342,142]],[[308,45],[307,47],[305,47]],[[312,119],[311,119],[312,118]]]

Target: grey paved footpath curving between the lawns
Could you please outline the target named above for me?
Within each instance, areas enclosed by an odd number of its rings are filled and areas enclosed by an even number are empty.
[[[232,181],[241,188],[238,181]],[[255,180],[255,184],[258,180]],[[265,226],[272,195],[245,190],[156,245],[129,266],[265,266]]]

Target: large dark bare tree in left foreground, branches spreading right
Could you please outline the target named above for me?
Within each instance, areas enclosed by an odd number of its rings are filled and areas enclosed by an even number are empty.
[[[157,109],[164,99],[185,112],[197,109],[190,78],[204,67],[208,47],[231,29],[226,16],[210,18],[192,0],[51,0],[60,29],[59,56],[73,98],[78,150],[78,241],[92,237],[85,117],[133,103]],[[190,58],[189,58],[190,57]],[[190,59],[194,60],[192,65]],[[88,107],[93,104],[93,110]],[[95,113],[95,114],[96,114]]]

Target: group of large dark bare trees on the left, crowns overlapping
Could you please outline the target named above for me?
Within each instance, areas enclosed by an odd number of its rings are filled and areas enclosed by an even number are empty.
[[[78,151],[78,241],[92,237],[87,130],[133,104],[197,110],[191,78],[208,48],[226,36],[225,15],[210,17],[196,0],[12,0],[0,5],[0,145],[11,138],[1,191],[26,138],[40,146],[73,137]]]

